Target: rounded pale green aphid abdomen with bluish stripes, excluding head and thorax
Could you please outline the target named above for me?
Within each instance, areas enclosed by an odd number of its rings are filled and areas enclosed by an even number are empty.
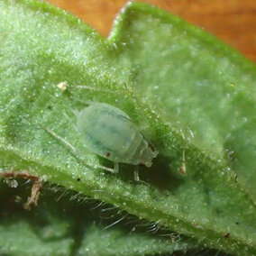
[[[90,151],[109,160],[127,162],[125,149],[138,129],[126,114],[113,106],[93,104],[78,114],[78,132]]]

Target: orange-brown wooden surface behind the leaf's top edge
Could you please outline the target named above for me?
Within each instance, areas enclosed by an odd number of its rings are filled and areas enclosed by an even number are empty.
[[[104,35],[125,0],[45,0],[77,15]],[[256,62],[256,0],[144,0],[178,14]]]

